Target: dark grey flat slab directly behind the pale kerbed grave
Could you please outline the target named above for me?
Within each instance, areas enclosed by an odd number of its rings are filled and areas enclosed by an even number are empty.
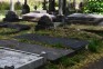
[[[71,55],[74,50],[71,49],[54,49],[54,48],[47,48],[38,45],[29,45],[18,42],[16,40],[0,40],[0,46],[9,47],[17,50],[28,51],[32,53],[41,53],[42,51],[47,52],[48,60],[56,60],[61,57]]]

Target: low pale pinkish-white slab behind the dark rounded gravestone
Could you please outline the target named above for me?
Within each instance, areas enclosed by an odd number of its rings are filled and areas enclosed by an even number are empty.
[[[49,13],[37,13],[37,12],[30,12],[27,14],[22,14],[22,19],[23,20],[29,20],[29,21],[39,21],[39,19],[43,16],[48,16],[50,18],[55,18],[53,14],[49,14]]]

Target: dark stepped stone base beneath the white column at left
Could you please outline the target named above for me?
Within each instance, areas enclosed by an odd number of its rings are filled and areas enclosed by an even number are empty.
[[[8,13],[6,14],[6,18],[3,19],[3,21],[18,21],[19,17],[17,16],[17,13],[14,11],[8,11]]]

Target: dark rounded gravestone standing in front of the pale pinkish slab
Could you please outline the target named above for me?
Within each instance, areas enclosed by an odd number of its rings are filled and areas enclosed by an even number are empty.
[[[43,16],[38,21],[38,24],[35,26],[35,30],[51,29],[52,27],[53,27],[52,19],[48,16]]]

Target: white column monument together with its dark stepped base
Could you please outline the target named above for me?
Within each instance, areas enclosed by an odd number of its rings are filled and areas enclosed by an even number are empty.
[[[14,2],[13,0],[10,0],[10,10],[6,14],[6,18],[3,19],[3,21],[18,21],[18,20],[19,20],[19,17],[14,12]]]

